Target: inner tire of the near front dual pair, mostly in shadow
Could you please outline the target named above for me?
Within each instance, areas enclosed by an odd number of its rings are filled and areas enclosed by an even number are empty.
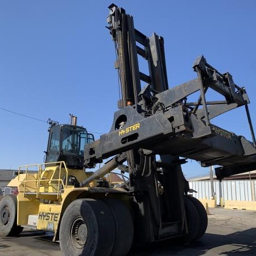
[[[112,211],[115,222],[115,242],[112,256],[127,255],[133,243],[133,218],[130,210],[118,199],[104,199]]]

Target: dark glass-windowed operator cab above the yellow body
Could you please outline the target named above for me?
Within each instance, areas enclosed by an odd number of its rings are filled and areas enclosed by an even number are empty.
[[[84,167],[84,146],[93,142],[94,136],[84,127],[52,123],[46,152],[46,163],[64,161],[67,168]]]

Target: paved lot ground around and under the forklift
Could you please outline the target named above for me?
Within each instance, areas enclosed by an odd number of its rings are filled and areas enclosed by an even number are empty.
[[[177,246],[168,241],[133,249],[139,255],[256,255],[256,212],[210,208],[207,233],[197,242]],[[1,237],[0,255],[60,256],[58,243],[49,233],[24,230],[20,237]],[[102,255],[103,256],[103,255]]]

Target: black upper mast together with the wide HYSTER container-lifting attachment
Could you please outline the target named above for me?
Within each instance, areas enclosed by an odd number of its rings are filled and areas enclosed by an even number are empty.
[[[168,89],[163,38],[144,36],[133,27],[133,17],[114,5],[108,22],[118,56],[122,108],[115,112],[110,132],[86,145],[86,166],[137,147],[146,155],[170,154],[195,159],[203,166],[221,166],[216,168],[218,179],[255,170],[255,137],[245,88],[236,85],[230,73],[221,74],[200,56],[193,64],[197,77]],[[139,71],[138,55],[148,61],[149,76]],[[147,83],[142,90],[141,81]],[[225,100],[207,101],[209,88]],[[200,92],[199,99],[187,102],[196,92]],[[240,106],[246,107],[253,143],[210,123],[217,115]]]

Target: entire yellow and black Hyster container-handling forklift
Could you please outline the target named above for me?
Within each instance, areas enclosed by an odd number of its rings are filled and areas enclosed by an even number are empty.
[[[114,4],[109,9],[122,93],[113,125],[94,141],[75,118],[72,125],[51,122],[45,162],[20,167],[9,183],[18,195],[0,203],[0,236],[18,236],[24,227],[53,232],[67,256],[126,255],[132,244],[171,238],[193,242],[205,233],[208,219],[200,201],[189,196],[181,164],[189,158],[217,165],[219,180],[256,168],[245,88],[201,56],[193,64],[197,77],[168,89],[163,38],[148,38],[125,10]],[[139,71],[138,55],[148,74]],[[210,90],[221,100],[208,101]],[[193,94],[197,100],[189,102]],[[240,106],[253,142],[210,123]],[[120,188],[102,179],[116,168],[129,175]]]

